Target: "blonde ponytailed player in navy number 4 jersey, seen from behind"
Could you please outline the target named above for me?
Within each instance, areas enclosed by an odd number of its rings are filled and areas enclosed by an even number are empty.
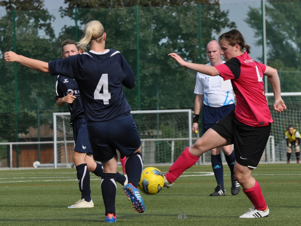
[[[81,93],[93,157],[101,161],[101,191],[105,206],[105,222],[116,222],[115,196],[117,154],[126,156],[128,184],[124,191],[137,212],[144,212],[143,199],[137,189],[143,161],[141,141],[123,86],[134,88],[134,73],[117,50],[105,49],[106,33],[99,21],[90,21],[84,29],[79,46],[89,45],[90,51],[49,63],[29,59],[13,52],[4,54],[7,62],[51,75],[75,79]]]

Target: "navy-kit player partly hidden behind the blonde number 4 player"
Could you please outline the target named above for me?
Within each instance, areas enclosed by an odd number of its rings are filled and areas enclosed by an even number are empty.
[[[73,40],[67,39],[62,42],[62,57],[70,57],[79,53],[84,53],[85,49],[77,46]],[[82,193],[74,205],[68,208],[90,208],[94,207],[91,199],[90,190],[90,173],[101,177],[103,169],[100,163],[96,163],[92,158],[92,148],[88,138],[87,122],[84,116],[84,108],[80,96],[79,88],[74,79],[70,79],[61,75],[57,76],[55,83],[55,97],[58,107],[63,107],[68,104],[70,111],[70,124],[73,129],[73,138],[75,142],[73,162],[76,166],[76,176],[79,183],[79,190]],[[117,182],[123,186],[126,184],[126,177],[117,172]]]

